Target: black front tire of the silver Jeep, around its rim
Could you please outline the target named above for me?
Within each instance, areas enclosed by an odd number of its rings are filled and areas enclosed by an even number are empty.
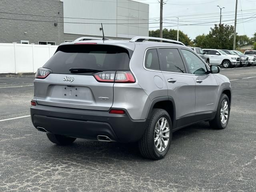
[[[222,102],[224,100],[226,100],[227,103],[228,103],[228,108],[227,108],[228,109],[228,118],[227,118],[226,122],[223,124],[221,122],[221,118],[220,118],[220,115],[221,115],[220,109],[221,109],[221,106],[222,106]],[[210,126],[214,129],[224,129],[224,128],[226,128],[226,126],[228,125],[229,115],[230,115],[230,101],[229,101],[228,96],[226,94],[221,94],[215,118],[212,121],[209,121]]]

